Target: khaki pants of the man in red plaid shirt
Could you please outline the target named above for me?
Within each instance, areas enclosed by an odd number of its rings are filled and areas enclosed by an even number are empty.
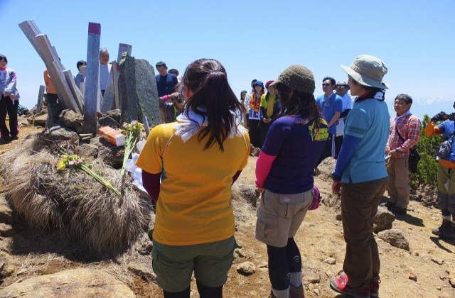
[[[406,208],[410,203],[410,171],[409,156],[404,158],[392,158],[387,160],[387,192],[390,203],[400,208]]]

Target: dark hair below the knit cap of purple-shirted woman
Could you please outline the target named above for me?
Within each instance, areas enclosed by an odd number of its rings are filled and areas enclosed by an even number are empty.
[[[299,115],[308,120],[315,121],[315,127],[319,128],[321,123],[321,110],[313,94],[291,89],[284,84],[276,84],[279,99],[282,101],[282,110],[279,116]],[[289,96],[293,91],[292,96]]]

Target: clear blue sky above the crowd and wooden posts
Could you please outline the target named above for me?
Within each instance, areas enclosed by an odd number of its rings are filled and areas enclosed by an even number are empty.
[[[200,57],[220,60],[238,95],[253,78],[267,81],[292,64],[321,79],[346,80],[340,64],[359,54],[380,57],[390,108],[397,94],[414,98],[414,114],[451,111],[455,100],[454,0],[437,1],[58,1],[0,0],[0,53],[18,75],[21,103],[36,103],[44,63],[17,24],[33,19],[76,71],[87,57],[87,23],[101,23],[111,60],[119,43],[152,65],[181,73]]]

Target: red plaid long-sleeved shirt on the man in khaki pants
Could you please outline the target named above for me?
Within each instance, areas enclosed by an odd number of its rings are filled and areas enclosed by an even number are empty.
[[[414,145],[419,142],[419,133],[422,124],[419,118],[412,114],[405,114],[404,116],[396,116],[395,119],[390,119],[389,139],[387,140],[387,147],[390,150],[398,150],[397,158],[404,158],[410,155],[410,150]],[[395,129],[395,123],[397,129]],[[405,140],[398,136],[397,130]]]

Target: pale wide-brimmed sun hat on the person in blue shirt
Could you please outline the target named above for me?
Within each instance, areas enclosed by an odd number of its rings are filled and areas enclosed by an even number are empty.
[[[388,84],[382,82],[382,78],[387,74],[387,66],[378,57],[358,55],[353,64],[349,67],[341,65],[341,68],[359,84],[380,89],[389,88]]]

